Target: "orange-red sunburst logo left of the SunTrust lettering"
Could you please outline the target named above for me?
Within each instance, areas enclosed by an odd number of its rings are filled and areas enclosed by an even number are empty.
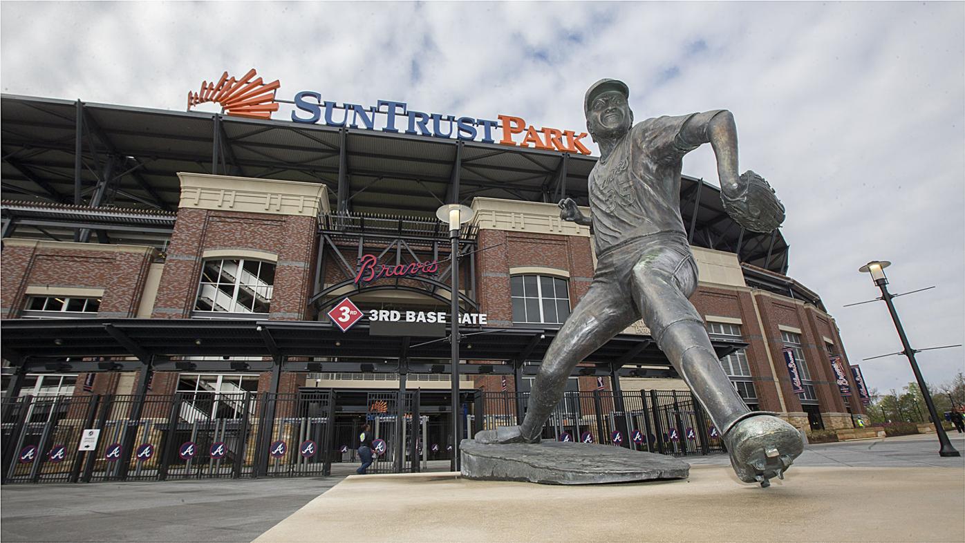
[[[255,75],[255,68],[251,68],[240,79],[228,77],[226,71],[217,83],[203,81],[200,91],[187,94],[187,109],[215,102],[234,117],[271,119],[271,112],[278,111],[275,93],[282,84],[277,79],[271,83],[264,83],[261,77],[252,79]]]

